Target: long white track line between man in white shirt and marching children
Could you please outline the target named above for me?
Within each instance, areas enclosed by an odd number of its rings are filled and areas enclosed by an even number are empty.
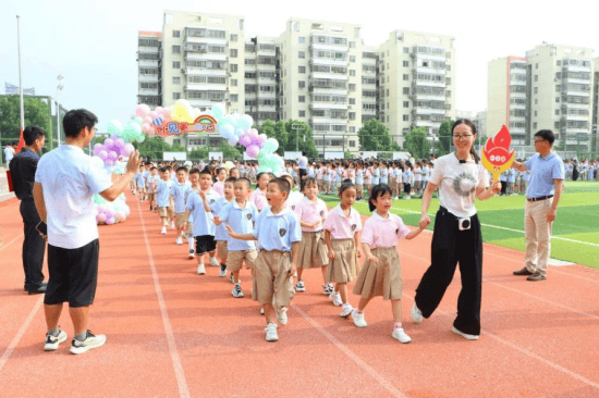
[[[158,273],[156,272],[154,254],[151,253],[148,234],[146,231],[146,223],[144,222],[144,217],[142,215],[142,207],[139,206],[139,202],[137,202],[137,213],[139,214],[139,220],[142,221],[142,231],[144,232],[144,240],[146,242],[146,250],[148,252],[151,277],[154,279],[154,287],[156,288],[156,296],[158,297],[158,306],[160,307],[160,314],[162,315],[162,324],[164,325],[164,333],[167,334],[167,343],[169,345],[169,351],[171,353],[171,361],[174,368],[176,384],[179,385],[179,395],[180,397],[183,397],[183,398],[190,398],[191,397],[190,388],[187,387],[187,381],[185,380],[185,372],[183,370],[183,364],[181,363],[181,358],[176,349],[176,341],[174,339],[171,321],[169,319],[169,313],[167,311],[167,303],[164,301],[164,296],[162,295],[162,288],[160,287]]]

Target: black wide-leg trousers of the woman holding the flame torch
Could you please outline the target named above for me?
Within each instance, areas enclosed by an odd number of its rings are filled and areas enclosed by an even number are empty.
[[[445,294],[460,263],[462,290],[457,298],[457,316],[453,325],[470,335],[480,334],[482,285],[482,236],[480,222],[470,217],[470,229],[460,231],[457,217],[441,207],[435,219],[430,251],[431,264],[416,289],[416,306],[429,318]]]

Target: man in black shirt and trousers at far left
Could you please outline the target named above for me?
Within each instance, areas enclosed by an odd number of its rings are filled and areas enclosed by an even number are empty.
[[[36,295],[46,291],[44,273],[41,272],[46,240],[36,229],[41,220],[37,213],[32,191],[37,162],[39,161],[37,152],[41,150],[46,142],[46,134],[38,126],[28,126],[23,130],[23,139],[25,140],[25,147],[14,156],[9,167],[14,192],[21,200],[20,211],[25,224],[25,240],[23,241],[25,290],[29,295]]]

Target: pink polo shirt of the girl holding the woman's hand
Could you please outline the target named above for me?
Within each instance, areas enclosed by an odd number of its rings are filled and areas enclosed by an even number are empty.
[[[375,211],[372,216],[364,223],[362,242],[368,244],[370,249],[394,247],[398,246],[398,239],[405,238],[407,234],[409,228],[399,215],[389,213],[389,219],[383,219]]]

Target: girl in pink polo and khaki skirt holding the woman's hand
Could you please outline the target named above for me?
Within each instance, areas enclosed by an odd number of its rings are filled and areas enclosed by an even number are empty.
[[[362,247],[366,254],[364,266],[354,286],[354,294],[360,295],[357,309],[352,313],[354,324],[366,327],[364,309],[375,296],[391,300],[393,308],[393,338],[409,343],[412,338],[402,326],[402,269],[398,254],[398,239],[413,239],[423,227],[409,231],[399,215],[389,212],[393,191],[387,184],[375,185],[368,207],[375,211],[364,224]]]

